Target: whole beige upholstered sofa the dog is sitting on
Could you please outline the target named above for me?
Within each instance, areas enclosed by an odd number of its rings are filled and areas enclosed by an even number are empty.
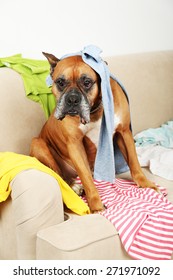
[[[106,60],[128,91],[134,134],[173,119],[173,51]],[[0,152],[28,154],[45,122],[43,111],[25,97],[23,81],[11,69],[0,68],[0,95]],[[173,182],[144,171],[167,188],[173,202]],[[23,171],[11,187],[11,196],[0,203],[0,259],[131,259],[103,216],[64,213],[59,186],[50,175]]]

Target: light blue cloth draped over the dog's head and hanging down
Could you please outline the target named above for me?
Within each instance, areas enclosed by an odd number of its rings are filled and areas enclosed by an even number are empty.
[[[104,180],[113,183],[115,181],[115,174],[127,171],[128,166],[116,141],[113,143],[114,105],[110,77],[118,82],[125,94],[126,91],[120,82],[110,74],[106,63],[100,57],[100,53],[101,50],[98,47],[89,45],[81,52],[65,55],[61,59],[69,56],[81,55],[83,61],[100,76],[104,114],[102,117],[99,145],[94,166],[94,178],[96,180]]]

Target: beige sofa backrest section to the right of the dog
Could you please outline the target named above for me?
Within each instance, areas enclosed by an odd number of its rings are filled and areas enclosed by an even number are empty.
[[[173,119],[173,51],[105,60],[128,92],[133,134]]]

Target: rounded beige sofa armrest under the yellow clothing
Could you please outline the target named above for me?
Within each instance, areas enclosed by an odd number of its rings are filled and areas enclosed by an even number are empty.
[[[64,221],[60,188],[50,175],[30,169],[11,182],[17,258],[36,258],[36,235],[43,228]]]

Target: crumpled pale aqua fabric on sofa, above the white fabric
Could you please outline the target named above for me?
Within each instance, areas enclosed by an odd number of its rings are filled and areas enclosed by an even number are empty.
[[[158,128],[146,129],[138,133],[134,139],[137,147],[156,144],[165,148],[173,148],[173,120]]]

